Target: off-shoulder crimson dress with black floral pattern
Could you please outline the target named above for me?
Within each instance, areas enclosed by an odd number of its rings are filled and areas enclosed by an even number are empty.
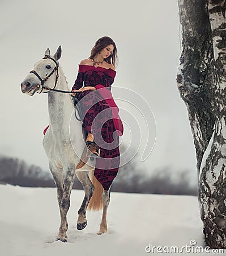
[[[78,76],[72,90],[83,86],[95,86],[96,90],[76,93],[82,110],[82,126],[92,133],[100,147],[94,175],[108,191],[120,165],[119,136],[123,125],[118,108],[110,92],[116,71],[93,65],[79,65]],[[113,134],[114,133],[114,134]]]

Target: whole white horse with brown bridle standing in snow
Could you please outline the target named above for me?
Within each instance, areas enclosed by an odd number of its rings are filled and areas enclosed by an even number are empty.
[[[75,173],[83,185],[84,199],[78,210],[77,229],[82,230],[87,225],[86,210],[89,204],[90,209],[99,210],[103,208],[103,216],[98,234],[107,232],[106,210],[109,205],[109,191],[104,191],[102,185],[93,175],[93,163],[90,159],[86,164],[78,167],[79,156],[84,150],[84,132],[82,124],[71,118],[74,112],[74,104],[69,93],[60,93],[52,89],[69,91],[65,75],[58,63],[61,57],[61,46],[53,56],[50,50],[46,49],[45,57],[35,64],[21,84],[22,92],[33,96],[36,92],[48,92],[49,129],[46,131],[43,146],[49,159],[49,168],[57,187],[57,198],[59,212],[61,214],[61,225],[57,240],[67,242],[67,212],[70,207],[71,189],[74,184]],[[69,127],[74,127],[70,130]],[[70,134],[69,134],[70,130]],[[77,170],[76,170],[77,168]],[[89,179],[89,176],[91,179]],[[92,180],[92,182],[91,182]],[[95,188],[95,190],[94,190]],[[93,192],[94,190],[94,192]],[[102,198],[101,198],[102,195]]]

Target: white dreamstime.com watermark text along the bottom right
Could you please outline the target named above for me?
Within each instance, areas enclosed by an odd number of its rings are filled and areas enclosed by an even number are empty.
[[[211,249],[210,247],[197,246],[195,240],[185,246],[152,246],[151,243],[145,247],[146,253],[224,253],[224,249]]]

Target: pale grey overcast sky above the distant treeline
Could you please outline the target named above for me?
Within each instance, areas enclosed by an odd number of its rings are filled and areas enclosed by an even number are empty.
[[[166,166],[189,169],[196,176],[187,111],[175,81],[181,51],[176,0],[1,0],[0,23],[0,154],[48,170],[42,148],[49,122],[46,94],[25,96],[20,82],[47,47],[54,53],[61,45],[60,62],[71,88],[80,60],[108,35],[120,60],[113,86],[134,90],[155,115],[156,144],[144,167],[150,172]]]

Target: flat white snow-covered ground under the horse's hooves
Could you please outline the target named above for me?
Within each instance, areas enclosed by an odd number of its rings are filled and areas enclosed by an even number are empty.
[[[145,248],[151,243],[152,247],[180,249],[190,246],[191,240],[197,246],[204,244],[198,201],[194,196],[112,192],[109,230],[98,236],[101,211],[87,212],[87,227],[76,230],[83,191],[74,190],[68,214],[68,242],[62,243],[55,241],[59,228],[56,189],[0,185],[0,195],[1,256],[161,255],[156,251],[147,253]]]

